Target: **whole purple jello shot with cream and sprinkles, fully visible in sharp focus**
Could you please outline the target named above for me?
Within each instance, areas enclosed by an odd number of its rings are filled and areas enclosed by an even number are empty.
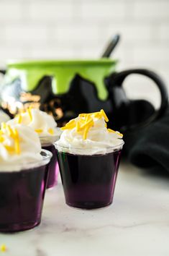
[[[65,202],[75,208],[102,208],[113,200],[124,141],[106,121],[103,110],[80,114],[55,142]]]

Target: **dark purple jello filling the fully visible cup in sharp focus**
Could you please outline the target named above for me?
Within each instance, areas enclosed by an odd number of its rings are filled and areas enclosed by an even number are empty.
[[[121,150],[106,155],[58,152],[65,201],[76,208],[101,208],[113,200]]]

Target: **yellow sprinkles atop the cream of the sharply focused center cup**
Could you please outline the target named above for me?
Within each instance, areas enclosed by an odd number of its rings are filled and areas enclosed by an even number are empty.
[[[62,127],[62,130],[65,129],[76,129],[76,132],[80,133],[83,136],[83,140],[86,140],[88,137],[88,132],[94,125],[94,119],[101,119],[104,118],[104,120],[107,122],[109,121],[108,117],[106,116],[106,113],[103,109],[99,112],[93,112],[89,114],[79,114],[78,119],[72,119],[67,124],[65,124],[65,127]],[[106,127],[106,124],[105,124]],[[123,136],[119,132],[115,132],[114,130],[107,129],[107,132],[114,132],[118,133],[119,136]]]

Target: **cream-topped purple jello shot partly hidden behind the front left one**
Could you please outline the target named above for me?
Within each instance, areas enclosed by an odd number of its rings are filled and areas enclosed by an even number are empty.
[[[42,148],[52,153],[52,159],[48,165],[47,189],[54,187],[58,182],[59,167],[53,142],[59,139],[61,133],[55,119],[44,111],[40,111],[40,109],[27,108],[25,111],[22,111],[22,113],[17,114],[17,116],[8,123],[24,124],[37,132]]]

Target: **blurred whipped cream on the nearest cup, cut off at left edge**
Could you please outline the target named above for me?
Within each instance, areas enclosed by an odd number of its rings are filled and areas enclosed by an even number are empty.
[[[14,147],[14,139],[3,129],[4,141],[0,142],[0,171],[19,171],[23,166],[29,168],[29,163],[42,160],[40,138],[30,127],[22,124],[11,125],[19,134],[20,153],[9,153],[5,145]]]

